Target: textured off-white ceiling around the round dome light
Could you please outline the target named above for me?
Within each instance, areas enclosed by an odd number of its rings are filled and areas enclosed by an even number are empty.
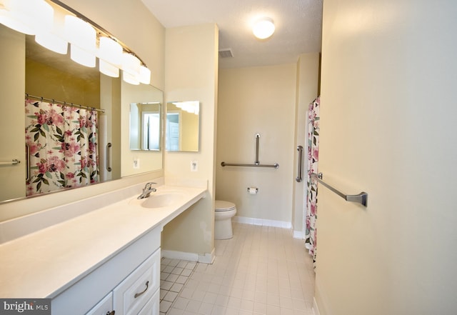
[[[321,51],[322,0],[141,0],[166,28],[216,23],[221,68],[295,63],[299,54]],[[254,21],[268,16],[276,31],[256,39]]]

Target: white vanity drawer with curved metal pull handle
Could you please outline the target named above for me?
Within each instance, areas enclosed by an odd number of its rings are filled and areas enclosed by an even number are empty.
[[[116,315],[138,314],[160,286],[160,249],[113,290]]]

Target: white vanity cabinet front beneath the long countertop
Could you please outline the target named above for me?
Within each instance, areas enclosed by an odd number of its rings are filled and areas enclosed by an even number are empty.
[[[52,314],[159,314],[160,233],[149,231],[56,296]]]

